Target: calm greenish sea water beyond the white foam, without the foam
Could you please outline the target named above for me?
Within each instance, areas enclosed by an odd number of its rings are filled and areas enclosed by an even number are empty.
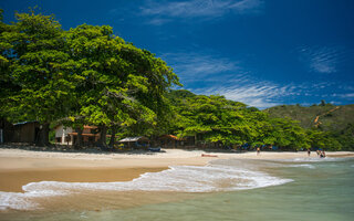
[[[185,200],[125,209],[37,213],[21,220],[354,220],[354,159],[291,161],[223,160],[215,165],[261,170],[277,186],[192,193]],[[209,171],[210,173],[210,171]],[[221,178],[220,178],[221,179]],[[285,182],[279,185],[279,180]],[[292,180],[292,181],[291,181]],[[230,183],[220,187],[230,188]],[[242,180],[241,180],[242,181]],[[259,185],[259,180],[256,180]],[[261,179],[264,183],[264,179]],[[226,182],[223,180],[223,182]],[[269,180],[266,180],[269,183]],[[252,185],[250,185],[252,183]],[[256,186],[254,186],[256,187]],[[150,194],[156,194],[152,192]],[[176,196],[176,193],[174,193]],[[175,196],[171,194],[171,198]],[[178,193],[177,193],[178,194]],[[104,207],[103,207],[104,208]],[[21,218],[20,218],[21,217]],[[14,217],[12,217],[14,218]]]

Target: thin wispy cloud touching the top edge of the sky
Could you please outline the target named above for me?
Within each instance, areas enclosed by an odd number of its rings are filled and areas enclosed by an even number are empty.
[[[150,24],[160,25],[170,19],[217,18],[228,13],[254,14],[263,9],[261,0],[191,0],[191,1],[147,1],[140,7],[140,14],[150,17]]]

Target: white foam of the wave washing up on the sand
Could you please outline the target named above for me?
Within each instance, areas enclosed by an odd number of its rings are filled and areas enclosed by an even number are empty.
[[[0,209],[31,210],[37,208],[31,200],[33,198],[75,190],[212,192],[262,188],[289,181],[292,180],[225,165],[175,166],[160,172],[146,172],[127,182],[31,182],[22,187],[24,193],[0,192]]]

